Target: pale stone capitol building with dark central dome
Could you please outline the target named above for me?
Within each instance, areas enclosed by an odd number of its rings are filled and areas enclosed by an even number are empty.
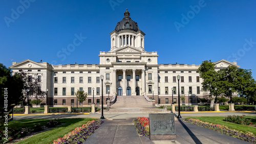
[[[42,83],[41,90],[48,89],[48,105],[56,107],[76,105],[77,90],[88,93],[83,105],[91,105],[93,96],[94,103],[101,105],[101,75],[104,76],[104,105],[109,97],[140,97],[142,94],[146,94],[149,99],[153,99],[154,95],[156,104],[170,105],[173,101],[178,103],[178,75],[180,94],[185,94],[186,104],[188,101],[190,104],[198,103],[198,98],[207,98],[208,93],[201,91],[203,79],[197,72],[200,65],[159,64],[157,52],[146,51],[145,33],[139,29],[138,23],[131,19],[127,9],[123,19],[117,22],[114,31],[110,33],[110,37],[111,49],[108,52],[99,52],[99,64],[52,65],[27,59],[13,62],[10,68],[13,72],[25,70],[36,74]],[[214,63],[216,70],[229,65],[239,67],[237,62],[224,59]],[[46,103],[46,99],[43,102]]]

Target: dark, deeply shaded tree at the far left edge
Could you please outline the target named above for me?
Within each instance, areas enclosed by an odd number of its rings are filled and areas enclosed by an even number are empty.
[[[5,120],[4,112],[9,112],[14,104],[22,100],[22,89],[22,79],[16,74],[11,75],[11,69],[0,63],[0,126]]]

